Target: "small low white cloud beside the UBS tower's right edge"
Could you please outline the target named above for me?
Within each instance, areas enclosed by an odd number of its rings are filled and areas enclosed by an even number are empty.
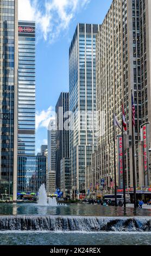
[[[48,128],[48,124],[50,120],[54,120],[55,112],[53,111],[53,107],[50,106],[46,110],[36,111],[36,130],[40,127]]]

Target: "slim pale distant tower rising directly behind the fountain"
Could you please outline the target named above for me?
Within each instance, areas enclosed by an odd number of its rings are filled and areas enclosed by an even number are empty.
[[[46,177],[46,190],[47,194],[52,194],[55,192],[55,120],[51,120],[48,125],[48,172]]]

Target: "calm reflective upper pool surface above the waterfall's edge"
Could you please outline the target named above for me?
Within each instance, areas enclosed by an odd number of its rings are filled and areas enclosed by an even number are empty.
[[[36,203],[1,203],[0,215],[151,216],[151,210],[85,204],[52,207]]]

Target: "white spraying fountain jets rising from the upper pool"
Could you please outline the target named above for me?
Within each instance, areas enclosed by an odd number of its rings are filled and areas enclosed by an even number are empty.
[[[48,198],[46,194],[45,185],[42,184],[39,188],[39,197],[38,197],[38,205],[40,206],[57,206],[56,198]]]

